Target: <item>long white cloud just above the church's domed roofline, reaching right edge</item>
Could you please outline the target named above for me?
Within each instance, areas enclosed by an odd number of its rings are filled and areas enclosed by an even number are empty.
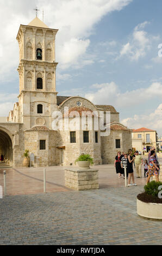
[[[147,88],[134,89],[122,92],[119,86],[114,82],[93,84],[92,88],[97,89],[96,92],[86,93],[85,97],[95,104],[113,105],[116,108],[130,107],[144,103],[144,100],[161,99],[162,84],[154,82]],[[145,97],[144,97],[145,95]]]

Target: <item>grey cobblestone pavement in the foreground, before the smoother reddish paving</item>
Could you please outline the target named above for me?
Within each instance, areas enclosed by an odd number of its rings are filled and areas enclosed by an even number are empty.
[[[0,245],[161,245],[162,222],[136,214],[143,186],[0,199]]]

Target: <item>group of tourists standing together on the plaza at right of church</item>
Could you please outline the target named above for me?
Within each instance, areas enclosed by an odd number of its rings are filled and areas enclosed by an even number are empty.
[[[141,166],[144,166],[144,176],[147,177],[146,184],[149,182],[151,176],[155,176],[157,182],[159,181],[159,162],[158,156],[155,153],[155,148],[152,147],[148,154],[148,161],[143,160],[139,151],[136,150],[135,154],[132,154],[132,149],[128,150],[128,153],[124,153],[121,151],[117,152],[117,156],[115,157],[114,166],[116,168],[116,173],[119,174],[119,179],[125,179],[124,167],[126,167],[126,174],[128,179],[128,187],[129,186],[137,186],[134,182],[134,173],[133,173],[133,163],[136,170],[136,178],[142,178],[141,175]],[[130,181],[132,180],[132,183]]]

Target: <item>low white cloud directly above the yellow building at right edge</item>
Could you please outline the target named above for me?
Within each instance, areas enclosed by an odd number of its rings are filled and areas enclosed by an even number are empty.
[[[162,135],[162,103],[158,106],[153,113],[149,115],[134,115],[134,117],[121,120],[123,125],[128,126],[130,129],[138,129],[146,127],[158,131]]]

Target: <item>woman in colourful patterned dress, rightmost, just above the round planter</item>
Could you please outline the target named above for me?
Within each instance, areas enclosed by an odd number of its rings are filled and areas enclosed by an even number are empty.
[[[151,156],[149,157],[149,166],[148,166],[148,174],[146,184],[149,182],[149,179],[151,176],[155,176],[157,182],[159,181],[159,175],[158,175],[159,167],[157,166],[157,159],[155,158],[155,151],[151,150]]]

